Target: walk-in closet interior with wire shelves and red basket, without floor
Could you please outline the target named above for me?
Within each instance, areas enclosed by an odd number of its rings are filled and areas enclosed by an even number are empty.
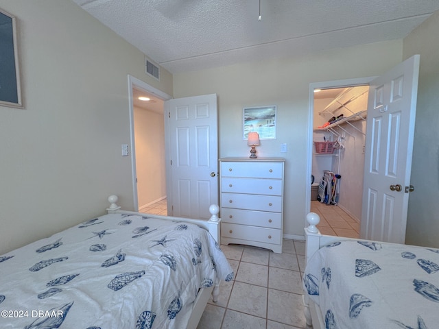
[[[358,221],[361,219],[367,103],[368,86],[314,93],[311,201],[316,199],[318,185],[328,171],[340,178],[333,180],[337,191],[333,191],[336,197],[328,202],[329,206],[340,206]],[[328,188],[329,197],[330,191]]]

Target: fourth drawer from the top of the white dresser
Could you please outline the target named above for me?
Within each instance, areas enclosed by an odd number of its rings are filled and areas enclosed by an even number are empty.
[[[221,220],[223,223],[282,228],[282,214],[280,212],[221,208]]]

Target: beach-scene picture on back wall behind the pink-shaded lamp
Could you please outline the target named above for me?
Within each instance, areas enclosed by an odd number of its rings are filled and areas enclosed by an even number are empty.
[[[276,106],[244,108],[243,138],[249,132],[257,132],[260,139],[276,139]]]

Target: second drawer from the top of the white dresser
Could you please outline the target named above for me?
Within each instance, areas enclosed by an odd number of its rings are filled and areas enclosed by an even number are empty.
[[[221,191],[229,193],[282,195],[282,180],[224,177],[221,180]]]

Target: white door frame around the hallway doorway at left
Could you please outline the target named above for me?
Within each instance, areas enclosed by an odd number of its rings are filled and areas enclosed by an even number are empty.
[[[131,173],[132,173],[132,196],[133,196],[133,206],[134,211],[139,211],[139,196],[137,195],[137,169],[136,169],[136,146],[134,143],[134,99],[132,98],[132,88],[137,86],[143,90],[146,90],[148,93],[154,94],[159,99],[163,101],[167,101],[172,97],[167,93],[163,93],[163,91],[154,88],[150,84],[143,82],[142,80],[137,79],[137,77],[133,77],[132,75],[128,75],[128,103],[129,103],[129,112],[130,112],[130,144],[131,144]],[[163,109],[165,112],[165,109]],[[165,128],[166,132],[166,128]],[[165,134],[165,145],[167,143],[167,136]],[[167,175],[167,173],[166,173]]]

